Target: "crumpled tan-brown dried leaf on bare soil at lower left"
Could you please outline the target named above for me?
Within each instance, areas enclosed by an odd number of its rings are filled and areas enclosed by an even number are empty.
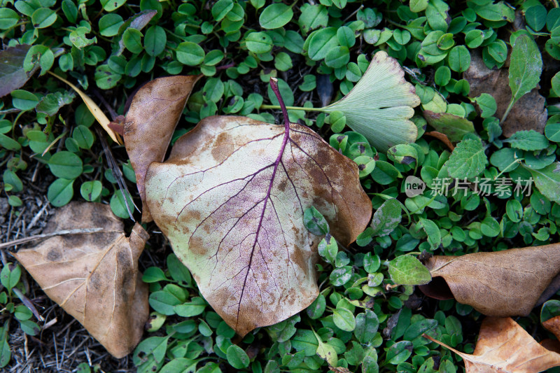
[[[50,299],[76,318],[111,355],[132,352],[148,319],[148,287],[138,258],[148,233],[136,224],[130,237],[104,204],[72,202],[59,209],[45,233],[102,227],[102,232],[47,239],[15,257]]]

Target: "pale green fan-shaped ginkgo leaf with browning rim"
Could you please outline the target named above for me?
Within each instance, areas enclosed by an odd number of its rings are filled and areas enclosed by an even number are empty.
[[[398,61],[381,50],[375,53],[356,86],[321,111],[342,111],[348,127],[363,134],[377,150],[386,152],[398,143],[416,140],[418,128],[409,119],[419,104],[414,85],[405,80]]]

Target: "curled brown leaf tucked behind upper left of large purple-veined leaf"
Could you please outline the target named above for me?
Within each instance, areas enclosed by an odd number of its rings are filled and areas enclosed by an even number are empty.
[[[141,87],[125,118],[125,147],[142,199],[142,221],[151,221],[144,178],[151,162],[163,162],[173,131],[199,76],[168,76]]]

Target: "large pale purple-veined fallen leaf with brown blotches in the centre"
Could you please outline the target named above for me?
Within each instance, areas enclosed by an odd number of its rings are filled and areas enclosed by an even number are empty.
[[[179,139],[146,175],[155,223],[202,295],[239,335],[278,323],[318,294],[315,206],[349,244],[372,205],[358,166],[311,129],[214,116]]]

